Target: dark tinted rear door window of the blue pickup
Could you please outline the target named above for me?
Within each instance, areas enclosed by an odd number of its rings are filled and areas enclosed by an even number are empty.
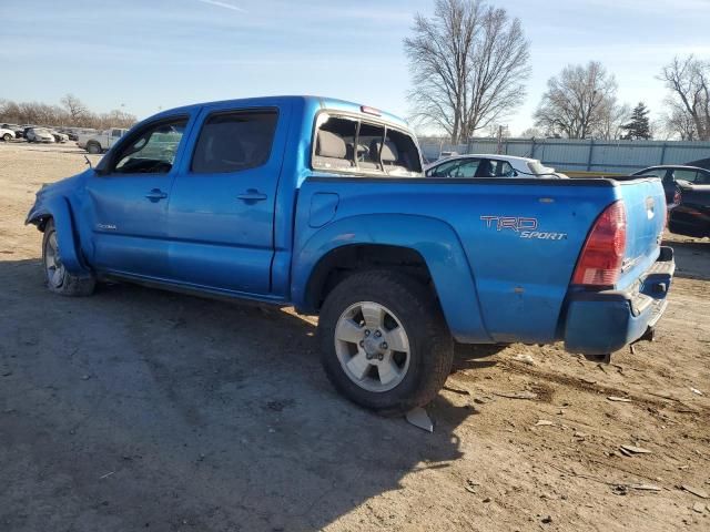
[[[268,161],[276,111],[242,111],[209,116],[192,157],[192,172],[222,174],[262,166]]]

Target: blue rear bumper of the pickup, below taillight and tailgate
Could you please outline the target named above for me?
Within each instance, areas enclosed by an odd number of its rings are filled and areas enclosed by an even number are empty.
[[[641,338],[663,315],[674,272],[673,249],[661,247],[658,260],[627,290],[570,293],[565,349],[607,355]]]

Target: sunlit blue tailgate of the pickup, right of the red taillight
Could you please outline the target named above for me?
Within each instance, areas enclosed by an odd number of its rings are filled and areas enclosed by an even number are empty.
[[[619,181],[626,207],[626,254],[617,288],[638,279],[659,255],[666,226],[666,194],[658,178]]]

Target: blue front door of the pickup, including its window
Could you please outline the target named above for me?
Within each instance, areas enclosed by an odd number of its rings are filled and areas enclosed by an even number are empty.
[[[165,278],[168,203],[187,116],[138,130],[89,177],[92,264],[100,272]]]

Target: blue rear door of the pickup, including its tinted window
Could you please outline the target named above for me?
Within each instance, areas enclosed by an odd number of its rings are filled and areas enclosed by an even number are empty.
[[[268,295],[290,103],[204,108],[169,206],[175,280]]]

